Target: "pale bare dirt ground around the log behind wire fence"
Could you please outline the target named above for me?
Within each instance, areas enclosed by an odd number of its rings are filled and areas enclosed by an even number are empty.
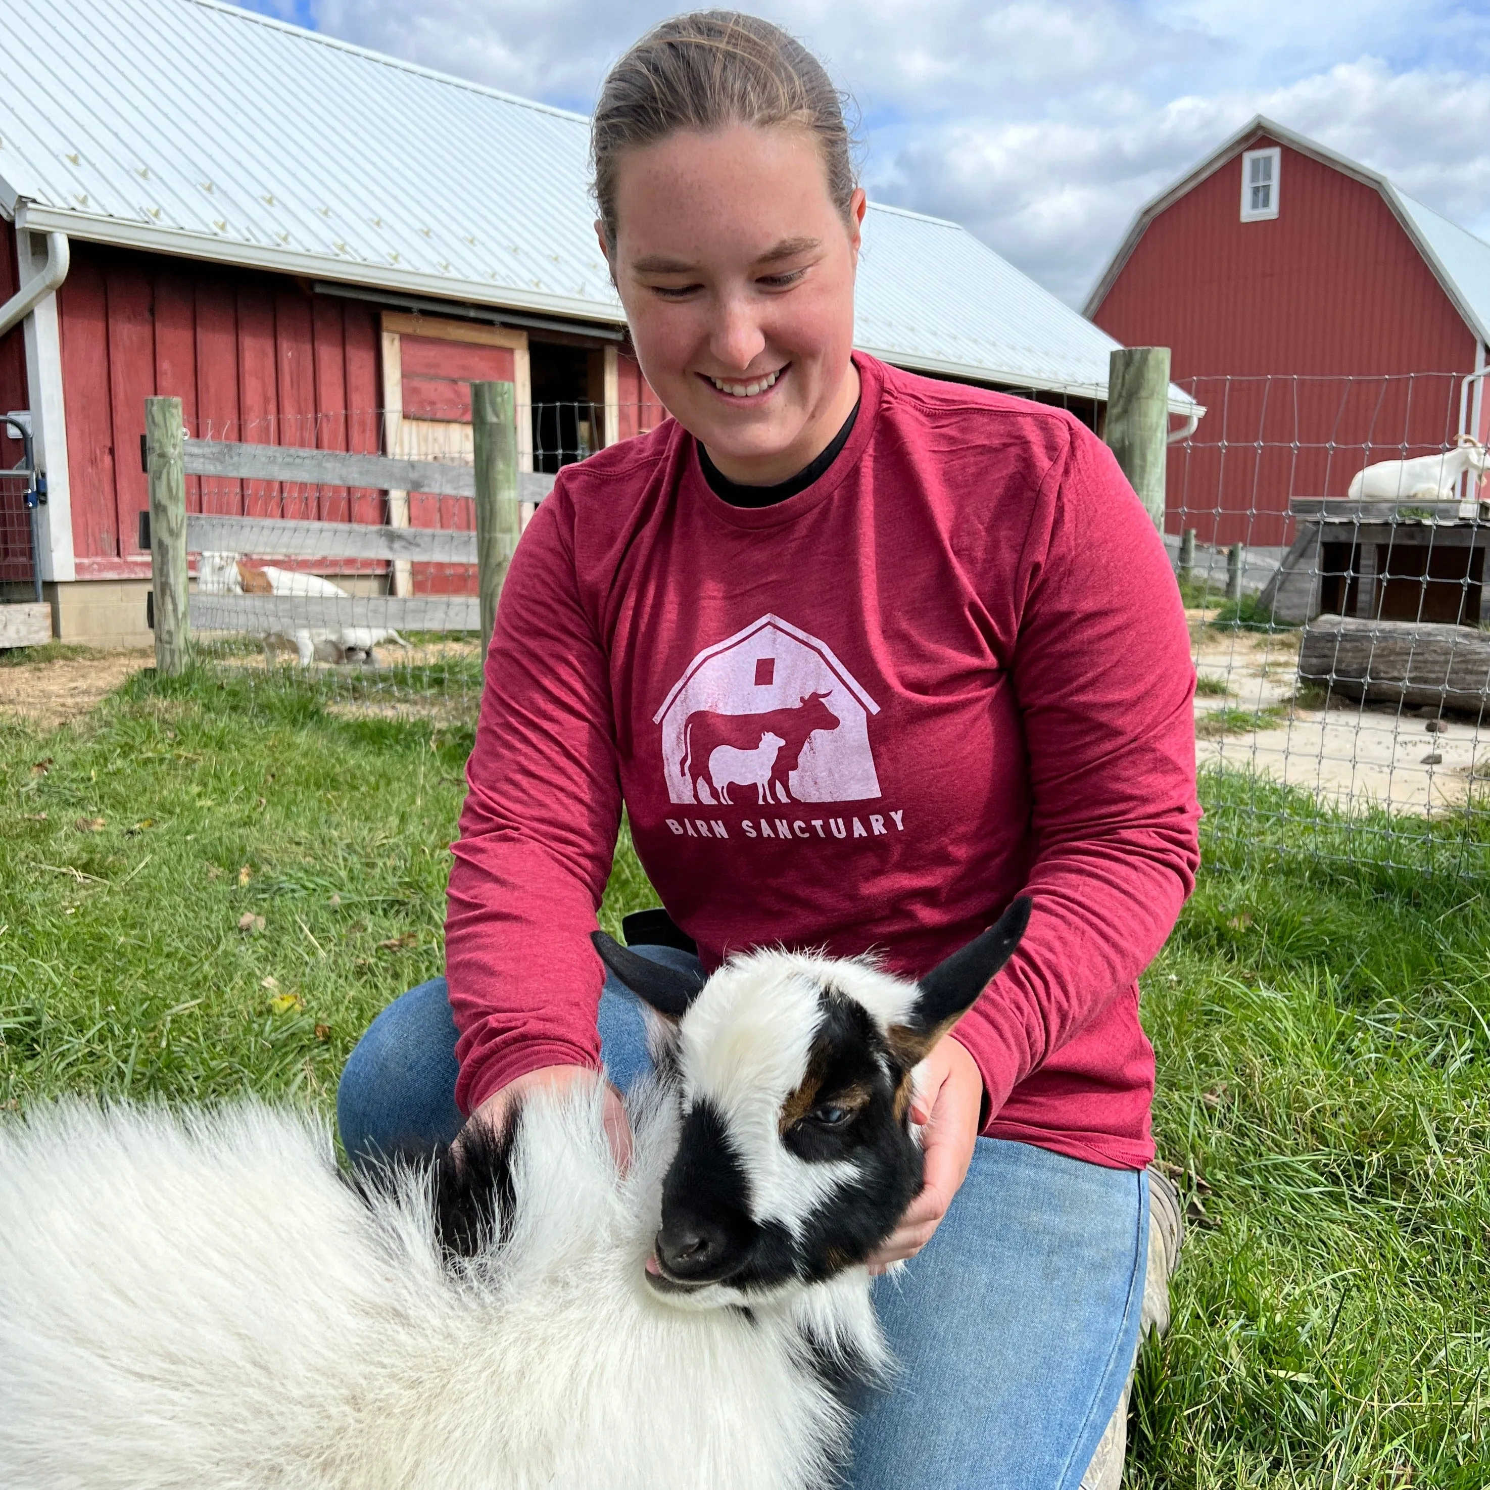
[[[1201,679],[1229,690],[1195,696],[1202,766],[1255,770],[1338,808],[1423,817],[1463,808],[1471,785],[1490,781],[1490,741],[1472,720],[1450,715],[1430,732],[1411,709],[1296,700],[1299,632],[1213,630],[1196,611],[1191,636]]]

